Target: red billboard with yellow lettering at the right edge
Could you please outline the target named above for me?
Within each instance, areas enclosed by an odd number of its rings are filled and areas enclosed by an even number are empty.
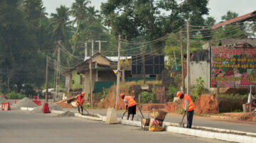
[[[256,47],[210,48],[210,87],[256,86]]]

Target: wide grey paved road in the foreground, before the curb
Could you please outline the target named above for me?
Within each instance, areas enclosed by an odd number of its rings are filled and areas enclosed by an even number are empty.
[[[140,127],[105,125],[82,118],[0,111],[0,142],[222,142],[169,132],[146,132]]]

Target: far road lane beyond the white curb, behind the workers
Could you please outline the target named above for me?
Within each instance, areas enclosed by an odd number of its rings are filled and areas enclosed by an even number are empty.
[[[77,109],[66,109],[66,110],[77,110]],[[107,110],[90,110],[92,113],[99,113],[100,115],[107,115]],[[122,117],[122,114],[124,111],[117,111],[117,116],[119,118]],[[148,113],[143,113],[144,116],[148,116]],[[139,111],[137,111],[137,115],[135,118],[139,118],[138,115],[141,115]],[[127,114],[124,115],[124,117],[127,117]],[[181,122],[181,115],[178,114],[167,114],[165,121],[166,122]],[[186,122],[186,117],[184,118],[184,121]],[[247,122],[248,123],[248,122]],[[245,124],[245,122],[237,122],[237,121],[230,121],[230,120],[214,120],[210,118],[203,118],[201,116],[194,116],[193,118],[193,125],[199,125],[199,126],[205,126],[205,127],[216,127],[216,128],[222,128],[227,130],[240,130],[244,132],[255,132],[256,133],[256,122],[249,122],[250,124]]]

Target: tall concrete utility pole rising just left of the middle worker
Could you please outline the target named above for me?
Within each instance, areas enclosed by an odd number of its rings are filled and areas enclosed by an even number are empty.
[[[119,94],[120,94],[120,49],[121,49],[121,35],[118,35],[118,62],[117,62],[117,95],[116,95],[116,108],[119,103]]]

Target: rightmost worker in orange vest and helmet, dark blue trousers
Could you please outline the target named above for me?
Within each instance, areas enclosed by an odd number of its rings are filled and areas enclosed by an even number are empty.
[[[178,98],[183,100],[183,108],[185,109],[184,115],[187,112],[187,128],[191,128],[192,121],[193,121],[193,110],[195,108],[195,105],[193,104],[193,101],[190,96],[187,94],[184,94],[181,91],[178,91],[177,93]]]

